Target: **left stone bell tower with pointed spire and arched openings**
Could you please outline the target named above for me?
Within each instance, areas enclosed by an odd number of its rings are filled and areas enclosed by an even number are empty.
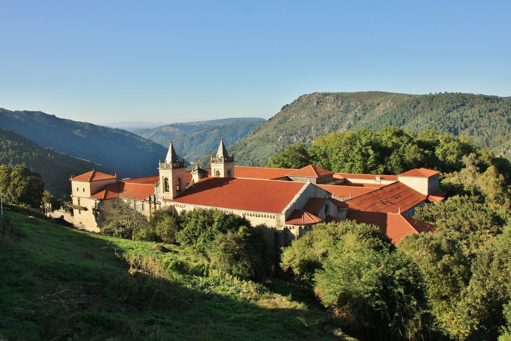
[[[184,160],[179,161],[172,141],[165,162],[159,162],[159,196],[174,199],[186,189]]]

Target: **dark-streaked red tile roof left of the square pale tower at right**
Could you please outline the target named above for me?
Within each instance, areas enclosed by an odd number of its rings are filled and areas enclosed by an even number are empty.
[[[426,200],[426,196],[400,183],[392,183],[347,200],[350,210],[367,212],[405,212]]]

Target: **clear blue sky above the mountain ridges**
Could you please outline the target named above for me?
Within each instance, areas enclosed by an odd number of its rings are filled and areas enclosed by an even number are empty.
[[[269,118],[313,92],[511,96],[509,1],[0,2],[0,107]]]

